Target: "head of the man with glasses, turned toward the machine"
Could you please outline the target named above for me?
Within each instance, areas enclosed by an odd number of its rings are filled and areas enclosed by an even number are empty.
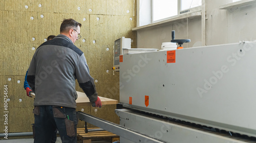
[[[76,22],[74,19],[64,19],[60,25],[60,34],[68,36],[73,43],[76,42],[80,36],[81,23]]]

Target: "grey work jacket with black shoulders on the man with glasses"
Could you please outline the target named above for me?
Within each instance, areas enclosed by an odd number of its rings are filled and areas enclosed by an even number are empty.
[[[36,49],[27,76],[35,93],[34,106],[76,108],[75,79],[90,102],[95,102],[98,94],[84,53],[67,36],[58,35]]]

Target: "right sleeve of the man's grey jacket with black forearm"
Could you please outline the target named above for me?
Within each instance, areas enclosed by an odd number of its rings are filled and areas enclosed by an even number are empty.
[[[90,75],[84,53],[80,56],[76,67],[76,78],[79,83],[79,87],[87,95],[90,102],[95,102],[98,98],[98,93],[96,92],[94,79]]]

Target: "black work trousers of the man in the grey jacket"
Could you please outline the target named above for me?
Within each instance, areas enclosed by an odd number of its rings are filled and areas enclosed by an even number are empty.
[[[49,143],[58,129],[62,143],[76,143],[77,112],[75,108],[61,106],[35,106],[34,143]]]

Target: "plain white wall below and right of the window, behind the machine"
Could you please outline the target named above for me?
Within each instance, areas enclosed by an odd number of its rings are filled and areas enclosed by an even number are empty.
[[[234,10],[220,10],[219,7],[231,3],[230,0],[205,0],[205,45],[236,43],[256,40],[256,5]],[[183,47],[201,46],[201,18],[169,23],[137,31],[137,48],[161,48],[162,42],[170,42],[172,30],[175,39],[191,39]]]

